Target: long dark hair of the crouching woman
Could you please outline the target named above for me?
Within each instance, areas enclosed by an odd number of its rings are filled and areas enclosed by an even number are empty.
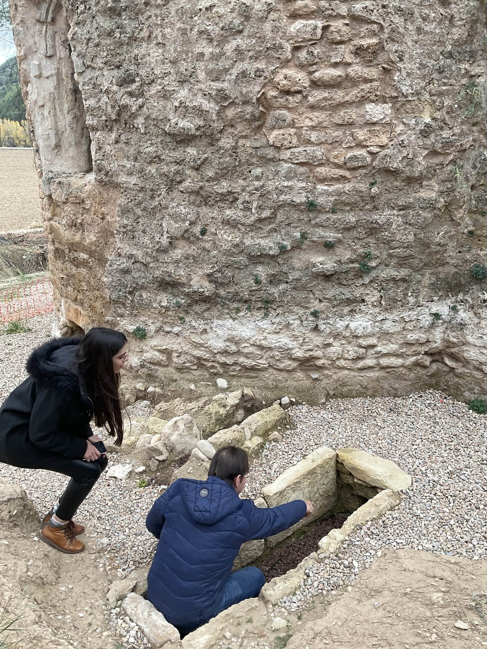
[[[127,338],[119,331],[94,327],[82,339],[77,359],[77,371],[93,400],[95,424],[105,426],[109,435],[116,436],[117,446],[123,439],[123,421],[118,395],[120,374],[114,372],[112,359],[126,342]]]

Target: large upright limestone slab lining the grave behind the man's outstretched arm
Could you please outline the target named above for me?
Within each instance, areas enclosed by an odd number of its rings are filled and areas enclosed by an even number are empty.
[[[269,507],[277,507],[290,500],[311,500],[312,515],[301,519],[289,530],[269,537],[266,545],[272,546],[299,528],[318,519],[336,504],[336,453],[332,448],[321,447],[301,462],[286,469],[272,484],[262,489]]]

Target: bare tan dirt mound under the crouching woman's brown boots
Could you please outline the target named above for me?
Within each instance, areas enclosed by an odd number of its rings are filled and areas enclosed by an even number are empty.
[[[39,541],[40,520],[22,491],[0,484],[0,646],[114,646],[103,612],[110,583],[96,550],[70,556]]]

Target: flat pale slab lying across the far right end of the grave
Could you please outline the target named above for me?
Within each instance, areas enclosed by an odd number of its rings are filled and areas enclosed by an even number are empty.
[[[411,486],[411,476],[390,459],[378,458],[353,447],[340,448],[336,457],[355,478],[374,487],[401,491]]]

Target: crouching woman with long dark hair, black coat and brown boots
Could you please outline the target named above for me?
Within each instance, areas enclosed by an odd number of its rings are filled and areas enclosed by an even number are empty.
[[[125,360],[127,338],[112,329],[95,327],[84,337],[53,339],[32,352],[29,378],[0,408],[0,462],[71,478],[40,533],[61,552],[84,550],[77,539],[84,528],[73,516],[108,463],[90,420],[121,445],[118,386]]]

